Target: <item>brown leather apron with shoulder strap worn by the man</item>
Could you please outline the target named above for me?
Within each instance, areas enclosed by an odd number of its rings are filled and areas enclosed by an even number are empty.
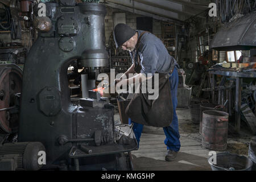
[[[139,43],[141,37],[146,31],[142,32],[138,38],[137,45],[135,46],[135,52],[138,52]],[[141,60],[139,59],[138,53],[134,60],[134,71],[141,73]],[[172,69],[173,71],[173,69]],[[131,118],[132,121],[148,126],[155,127],[167,127],[172,122],[173,117],[173,106],[171,97],[171,88],[169,82],[168,73],[159,74],[159,96],[155,100],[149,100],[148,96],[154,95],[154,93],[142,93],[142,84],[139,85],[139,93],[135,93],[131,99],[129,105],[126,107],[125,113]],[[152,79],[152,85],[154,86],[154,78]],[[155,88],[153,88],[155,89]]]

